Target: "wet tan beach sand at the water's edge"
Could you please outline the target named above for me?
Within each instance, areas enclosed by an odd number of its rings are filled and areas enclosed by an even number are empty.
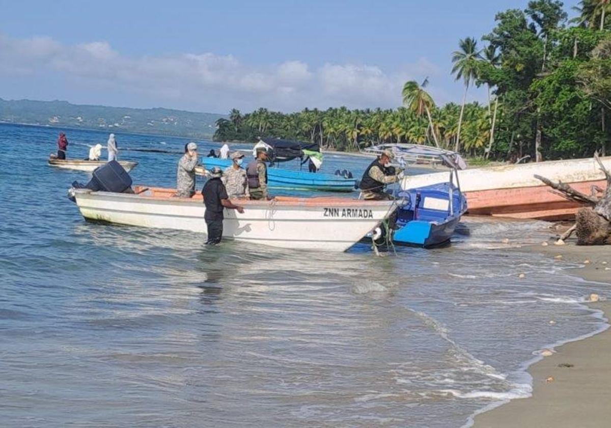
[[[523,249],[523,248],[522,248]],[[611,246],[533,246],[532,251],[583,267],[573,273],[588,281],[611,282]],[[589,260],[588,264],[584,264]],[[607,263],[607,264],[605,264]],[[607,268],[607,270],[606,270]],[[591,287],[602,300],[588,306],[611,315],[611,297]],[[555,349],[529,368],[533,394],[511,400],[475,417],[476,428],[611,426],[611,329]]]

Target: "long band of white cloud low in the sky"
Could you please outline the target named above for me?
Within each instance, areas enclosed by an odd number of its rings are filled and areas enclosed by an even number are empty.
[[[57,73],[93,103],[100,94],[105,102],[108,94],[120,94],[117,103],[123,105],[125,99],[133,100],[131,105],[142,105],[145,99],[199,111],[222,112],[234,106],[246,111],[259,106],[283,111],[340,105],[389,108],[400,105],[406,80],[437,72],[426,59],[394,73],[367,64],[324,64],[310,70],[296,60],[252,67],[231,55],[130,57],[103,41],[62,45],[48,37],[12,39],[0,34],[2,86],[10,85],[11,79],[23,81],[24,76],[42,84],[48,73]],[[53,97],[62,98],[64,89],[47,88],[45,93],[56,90]]]

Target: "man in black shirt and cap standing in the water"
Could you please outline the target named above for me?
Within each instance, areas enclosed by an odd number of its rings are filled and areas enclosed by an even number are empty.
[[[210,170],[210,180],[206,182],[202,189],[203,203],[206,205],[206,212],[203,215],[208,227],[207,245],[216,245],[221,242],[223,236],[223,208],[237,210],[243,213],[244,208],[233,205],[227,196],[225,185],[221,181],[223,171],[218,166]]]

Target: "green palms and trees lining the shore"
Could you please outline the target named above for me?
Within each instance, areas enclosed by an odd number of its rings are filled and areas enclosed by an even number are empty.
[[[439,106],[429,79],[408,81],[397,109],[259,108],[219,119],[216,141],[258,137],[318,142],[359,150],[381,142],[411,142],[471,157],[532,160],[606,153],[611,144],[611,0],[583,0],[568,19],[557,0],[497,13],[480,39],[465,37],[450,54],[452,74],[464,84],[461,105]],[[467,102],[485,86],[488,103]]]

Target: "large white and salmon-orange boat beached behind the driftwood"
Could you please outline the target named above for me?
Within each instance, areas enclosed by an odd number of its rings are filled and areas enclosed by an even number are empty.
[[[611,157],[601,161],[605,168],[611,169]],[[554,182],[562,181],[586,194],[591,193],[593,185],[601,188],[607,185],[593,158],[466,169],[460,173],[460,186],[467,197],[467,213],[538,220],[574,218],[582,205],[555,193],[536,179],[535,174]],[[401,182],[401,188],[429,186],[446,180],[447,172],[409,175]]]

